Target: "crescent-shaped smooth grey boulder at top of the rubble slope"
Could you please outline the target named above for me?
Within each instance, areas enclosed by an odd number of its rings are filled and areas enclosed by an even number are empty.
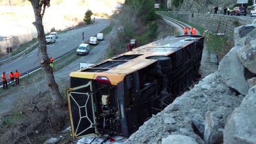
[[[237,50],[240,47],[241,46],[233,47],[229,53],[223,57],[220,61],[218,71],[229,87],[236,89],[243,95],[246,95],[249,86],[244,77],[245,68],[237,55]]]

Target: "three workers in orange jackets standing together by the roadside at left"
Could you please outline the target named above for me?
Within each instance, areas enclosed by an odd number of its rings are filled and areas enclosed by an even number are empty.
[[[15,79],[15,84],[19,85],[20,84],[20,72],[18,72],[17,70],[14,73],[13,72],[9,73],[9,84],[11,82],[14,83],[14,79]],[[8,85],[7,85],[7,78],[5,76],[5,72],[2,73],[2,83],[3,83],[3,88],[7,89]]]

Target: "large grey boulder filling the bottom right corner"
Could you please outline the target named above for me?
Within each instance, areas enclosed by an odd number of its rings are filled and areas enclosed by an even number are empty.
[[[233,143],[256,143],[256,86],[249,89],[226,124],[224,144]]]

